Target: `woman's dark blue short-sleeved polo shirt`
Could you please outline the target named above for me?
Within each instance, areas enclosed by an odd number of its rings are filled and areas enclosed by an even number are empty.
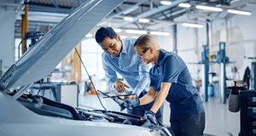
[[[162,82],[172,82],[166,97],[171,107],[171,118],[205,111],[197,89],[192,84],[189,69],[177,54],[160,49],[159,59],[150,70],[149,75],[150,87],[158,92]]]

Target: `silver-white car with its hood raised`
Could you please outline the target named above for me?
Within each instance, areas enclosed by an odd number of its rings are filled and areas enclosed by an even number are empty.
[[[44,35],[0,79],[1,136],[153,136],[171,135],[164,127],[142,127],[140,116],[91,111],[24,94],[123,0],[88,0]],[[90,47],[89,47],[90,48]]]

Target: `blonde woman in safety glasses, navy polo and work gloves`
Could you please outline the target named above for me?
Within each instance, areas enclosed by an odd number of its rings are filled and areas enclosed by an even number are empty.
[[[167,100],[171,108],[171,128],[176,136],[202,136],[205,128],[205,110],[187,65],[177,54],[160,49],[151,35],[137,38],[134,49],[138,59],[146,64],[154,62],[149,71],[150,88],[140,99],[125,99],[128,106],[146,105],[154,100],[144,118],[157,125],[155,113]]]

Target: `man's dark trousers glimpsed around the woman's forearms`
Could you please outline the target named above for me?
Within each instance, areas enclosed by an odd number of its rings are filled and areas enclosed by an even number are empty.
[[[138,98],[142,98],[143,95],[147,94],[147,92],[141,93]],[[132,108],[132,110],[127,110],[127,113],[137,115],[137,116],[144,116],[145,111],[149,111],[153,106],[154,101],[147,105],[138,105],[137,107]],[[164,112],[164,105],[161,105],[160,109],[155,113],[156,119],[163,123],[163,112]]]

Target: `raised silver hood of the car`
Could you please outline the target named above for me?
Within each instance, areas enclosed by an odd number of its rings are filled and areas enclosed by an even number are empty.
[[[47,32],[6,71],[0,79],[0,90],[28,85],[47,76],[85,34],[124,1],[84,2]]]

